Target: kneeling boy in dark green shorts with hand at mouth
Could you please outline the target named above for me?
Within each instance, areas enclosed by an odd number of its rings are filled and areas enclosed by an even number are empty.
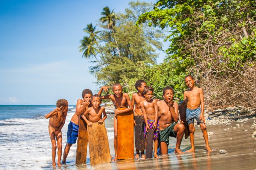
[[[159,142],[161,154],[168,153],[169,136],[176,138],[176,154],[183,154],[181,151],[181,141],[184,135],[184,125],[179,121],[178,103],[173,101],[174,90],[171,87],[164,87],[164,100],[158,101],[158,115],[160,126]]]

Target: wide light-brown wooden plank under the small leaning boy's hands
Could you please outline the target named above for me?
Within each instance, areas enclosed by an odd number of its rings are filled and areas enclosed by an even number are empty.
[[[87,130],[91,165],[111,163],[105,122],[103,124],[92,123],[92,127],[87,125]]]

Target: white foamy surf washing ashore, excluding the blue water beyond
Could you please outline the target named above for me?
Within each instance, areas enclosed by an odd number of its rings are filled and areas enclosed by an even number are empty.
[[[68,112],[62,128],[62,157],[66,145],[68,124],[74,110]],[[111,120],[112,121],[112,120]],[[41,169],[51,166],[52,145],[49,138],[49,119],[7,119],[0,120],[0,169]],[[114,129],[108,128],[108,138],[114,138]],[[69,152],[75,156],[76,144]],[[56,162],[57,160],[56,153]]]

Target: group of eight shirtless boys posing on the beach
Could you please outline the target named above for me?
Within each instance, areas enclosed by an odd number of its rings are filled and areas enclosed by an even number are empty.
[[[194,147],[194,119],[203,132],[203,137],[206,142],[206,150],[212,151],[207,136],[205,119],[203,116],[204,102],[203,91],[194,85],[194,77],[188,75],[185,77],[185,83],[189,89],[184,92],[184,100],[187,99],[187,124],[190,132],[191,148],[186,152],[195,151]],[[134,109],[134,126],[135,126],[135,158],[144,159],[144,150],[146,149],[146,138],[149,129],[154,130],[154,157],[158,157],[157,149],[160,148],[161,154],[167,154],[169,136],[177,139],[174,152],[176,154],[183,154],[181,151],[181,141],[184,135],[183,122],[179,121],[178,104],[174,102],[174,90],[171,87],[164,87],[163,100],[153,99],[154,89],[147,87],[144,80],[138,80],[135,83],[137,93],[132,94],[130,100],[128,93],[122,93],[122,86],[119,83],[113,84],[112,90],[114,94],[101,96],[104,90],[108,93],[106,86],[101,87],[98,94],[92,95],[92,91],[85,89],[82,92],[82,99],[78,99],[76,103],[75,114],[68,125],[67,143],[64,149],[62,164],[66,164],[66,158],[69,154],[69,149],[72,144],[75,144],[78,137],[79,120],[80,117],[85,120],[88,126],[92,126],[93,122],[102,124],[107,118],[104,106],[100,106],[102,99],[111,99],[115,106],[114,116],[114,148],[115,157],[117,160],[117,118],[116,116],[129,112]],[[201,107],[200,107],[201,106]],[[117,108],[126,108],[118,110]],[[49,120],[49,135],[52,141],[52,158],[53,166],[56,166],[56,148],[58,148],[58,166],[61,166],[60,160],[62,155],[62,134],[61,128],[63,127],[68,111],[68,102],[65,99],[57,101],[57,108],[49,112],[45,118]],[[103,117],[102,117],[103,114]],[[57,141],[57,147],[56,147]],[[141,154],[140,152],[141,151]]]

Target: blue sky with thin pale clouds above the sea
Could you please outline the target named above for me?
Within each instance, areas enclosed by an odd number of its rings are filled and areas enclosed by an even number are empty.
[[[0,0],[0,105],[75,105],[82,90],[97,92],[78,49],[83,29],[105,6],[124,12],[129,1]]]

